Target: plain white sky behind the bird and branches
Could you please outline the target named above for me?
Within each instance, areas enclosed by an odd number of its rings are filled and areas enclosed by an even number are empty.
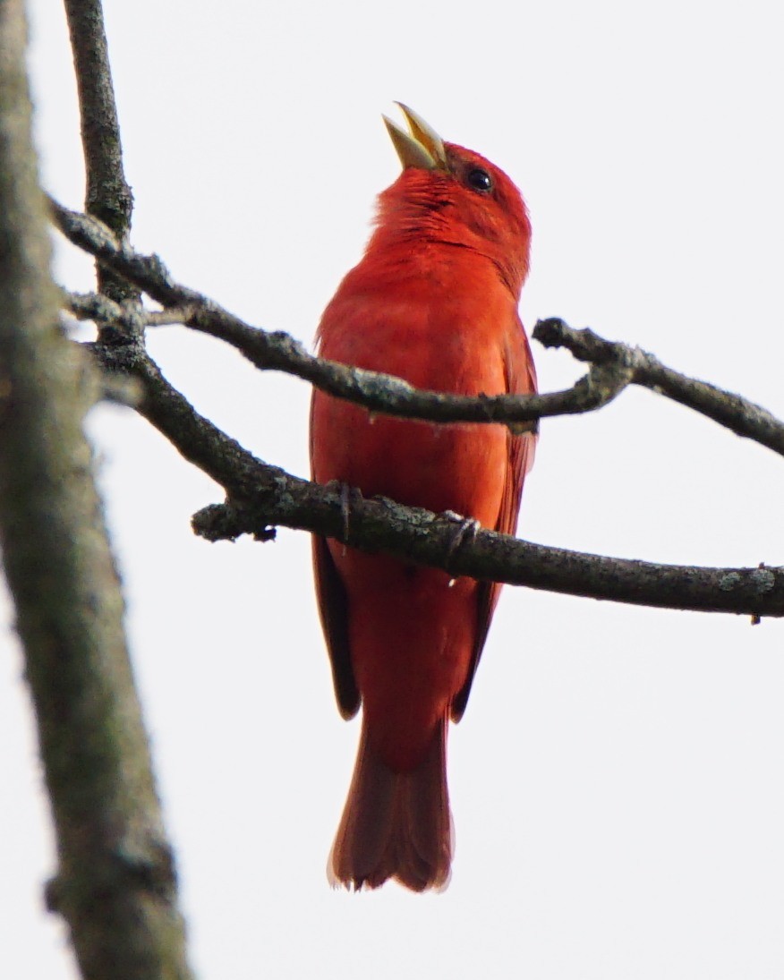
[[[82,175],[65,22],[31,3],[47,187]],[[774,2],[106,0],[133,241],[310,344],[412,105],[509,172],[534,225],[522,315],[563,316],[784,416],[781,11]],[[58,275],[90,265],[58,247]],[[307,472],[309,390],[167,328],[174,384]],[[535,350],[543,390],[578,368]],[[784,972],[782,625],[508,589],[451,737],[452,884],[333,893],[358,725],[332,697],[309,542],[208,545],[221,491],[146,423],[89,423],[192,961],[202,977],[535,980]],[[656,561],[782,564],[782,461],[645,392],[545,422],[520,533]],[[0,972],[74,976],[21,659],[0,643]]]

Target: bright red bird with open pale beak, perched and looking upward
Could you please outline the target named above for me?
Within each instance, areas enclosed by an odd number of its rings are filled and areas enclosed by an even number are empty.
[[[441,138],[406,106],[385,119],[403,163],[375,230],[319,325],[319,355],[463,395],[536,391],[517,315],[530,223],[506,173]],[[316,390],[311,462],[337,480],[514,533],[534,437],[504,425],[373,417]],[[363,705],[329,877],[443,888],[452,861],[447,724],[466,709],[501,586],[314,538],[319,612],[339,709]]]

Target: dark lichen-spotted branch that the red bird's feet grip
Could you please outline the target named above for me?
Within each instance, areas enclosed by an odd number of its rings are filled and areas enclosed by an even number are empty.
[[[283,525],[335,538],[354,548],[383,552],[406,562],[442,568],[453,576],[526,585],[568,595],[638,606],[784,615],[784,568],[703,568],[604,558],[530,544],[481,530],[456,547],[459,527],[448,515],[403,507],[385,499],[349,495],[257,460],[175,391],[140,344],[94,353],[104,368],[138,379],[144,389],[137,411],[195,466],[226,490],[229,503],[193,518],[197,534],[211,541],[253,534],[274,537]]]

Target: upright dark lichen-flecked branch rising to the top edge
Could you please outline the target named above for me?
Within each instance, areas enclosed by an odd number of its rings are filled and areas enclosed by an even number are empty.
[[[79,97],[88,215],[123,240],[130,228],[133,194],[123,171],[120,123],[109,65],[101,0],[65,0]],[[138,300],[128,280],[96,264],[98,288],[118,302]]]

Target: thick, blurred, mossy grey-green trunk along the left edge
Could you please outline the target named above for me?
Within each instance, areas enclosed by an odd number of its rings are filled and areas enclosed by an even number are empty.
[[[172,851],[58,324],[30,140],[22,0],[0,4],[0,543],[57,832],[50,907],[82,976],[185,980]]]

